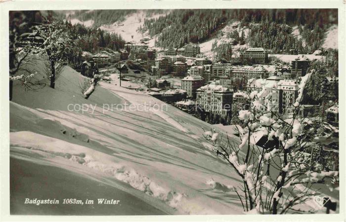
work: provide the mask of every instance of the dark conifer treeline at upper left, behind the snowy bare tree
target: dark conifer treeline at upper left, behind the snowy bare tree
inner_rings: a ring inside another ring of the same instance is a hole
[[[67,56],[69,65],[73,68],[78,68],[83,62],[82,53],[88,51],[95,53],[100,48],[110,48],[118,50],[124,47],[125,41],[118,34],[111,34],[104,30],[95,27],[87,28],[82,24],[72,25],[68,21],[62,21],[61,13],[55,11],[11,11],[9,14],[10,33],[10,55],[11,51],[20,45],[14,45],[15,41],[21,43],[21,35],[24,33],[33,32],[35,26],[47,25],[59,22],[59,29],[62,29],[67,34],[73,45],[69,45],[71,53]],[[16,38],[16,39],[13,39]]]

